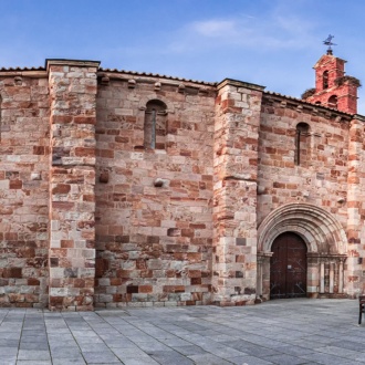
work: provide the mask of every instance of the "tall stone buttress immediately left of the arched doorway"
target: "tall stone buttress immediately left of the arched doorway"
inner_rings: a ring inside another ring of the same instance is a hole
[[[253,303],[257,294],[257,178],[262,86],[218,85],[215,128],[212,301]]]

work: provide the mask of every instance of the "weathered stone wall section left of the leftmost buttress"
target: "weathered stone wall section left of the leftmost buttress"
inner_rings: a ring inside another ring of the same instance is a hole
[[[45,71],[0,73],[0,306],[48,303]]]

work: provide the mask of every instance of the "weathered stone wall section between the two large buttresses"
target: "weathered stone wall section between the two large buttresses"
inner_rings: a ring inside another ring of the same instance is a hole
[[[215,87],[100,79],[95,305],[209,303]],[[144,147],[150,101],[166,104],[165,148]]]

